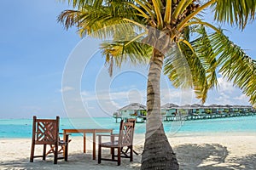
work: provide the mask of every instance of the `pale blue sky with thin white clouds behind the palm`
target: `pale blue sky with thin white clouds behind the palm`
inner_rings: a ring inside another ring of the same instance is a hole
[[[129,102],[145,104],[148,67],[125,65],[123,69],[116,69],[113,77],[108,77],[104,59],[96,51],[98,42],[89,38],[80,42],[75,29],[65,31],[57,23],[57,15],[67,8],[67,3],[54,0],[1,1],[0,118],[111,116]],[[253,59],[256,59],[255,26],[254,22],[243,32],[228,27],[230,32],[227,32]],[[78,54],[90,59],[80,77],[79,89],[67,84],[62,87],[68,59]],[[249,104],[241,90],[220,75],[218,80],[221,88],[208,94],[206,105]],[[199,102],[190,91],[173,89],[165,77],[161,85],[162,104]],[[72,103],[77,100],[74,98],[68,101],[70,105],[63,104],[61,93],[75,90],[83,105]]]

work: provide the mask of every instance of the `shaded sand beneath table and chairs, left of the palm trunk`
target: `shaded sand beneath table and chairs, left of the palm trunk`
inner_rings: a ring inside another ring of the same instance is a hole
[[[109,154],[109,152],[108,152]],[[57,164],[53,163],[53,156],[47,156],[46,161],[42,158],[35,158],[33,162],[29,162],[29,157],[17,159],[15,161],[1,161],[0,169],[117,169],[117,163],[113,161],[103,161],[98,164],[97,160],[92,160],[91,153],[73,153],[68,155],[68,161],[58,160]],[[129,159],[122,159],[121,167],[125,169],[140,169],[140,161],[130,162]]]

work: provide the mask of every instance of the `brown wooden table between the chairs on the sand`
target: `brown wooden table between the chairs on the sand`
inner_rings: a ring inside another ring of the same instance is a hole
[[[65,141],[65,136],[67,133],[84,133],[84,153],[86,152],[86,133],[92,133],[92,159],[96,160],[96,133],[113,133],[112,128],[68,128],[63,129],[63,137]]]

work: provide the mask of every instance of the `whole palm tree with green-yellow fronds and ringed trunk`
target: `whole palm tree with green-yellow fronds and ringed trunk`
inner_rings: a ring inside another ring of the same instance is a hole
[[[256,61],[224,36],[223,30],[202,20],[202,12],[211,8],[216,21],[239,26],[242,31],[248,21],[254,20],[256,0],[68,0],[68,3],[74,9],[63,11],[58,18],[67,29],[76,26],[81,37],[88,34],[113,38],[102,43],[110,73],[113,65],[121,66],[124,61],[149,64],[148,117],[141,169],[178,169],[160,116],[162,71],[174,87],[193,88],[202,103],[207,99],[207,91],[218,86],[219,71],[256,104]]]

